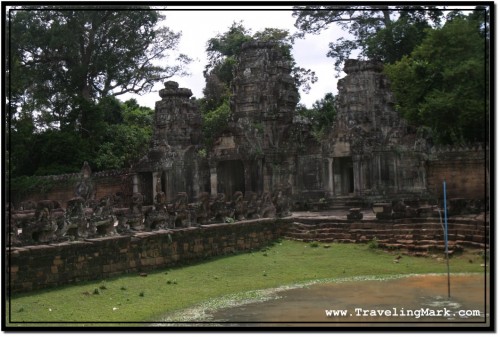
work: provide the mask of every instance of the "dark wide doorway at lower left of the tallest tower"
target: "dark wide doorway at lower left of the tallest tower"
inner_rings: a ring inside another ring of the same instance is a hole
[[[245,167],[241,160],[225,160],[217,164],[217,193],[231,199],[237,191],[245,193]]]

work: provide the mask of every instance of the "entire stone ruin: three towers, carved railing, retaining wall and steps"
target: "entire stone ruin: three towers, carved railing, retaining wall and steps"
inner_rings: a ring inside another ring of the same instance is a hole
[[[450,215],[486,211],[485,221],[450,222],[450,240],[487,248],[487,149],[430,148],[395,111],[382,64],[347,60],[344,71],[336,120],[320,143],[310,123],[295,116],[298,91],[279,45],[245,44],[229,123],[205,155],[191,90],[166,82],[150,149],[137,165],[114,173],[84,165],[69,180],[50,178],[69,181],[52,194],[10,200],[10,290],[165,267],[284,235],[325,242],[377,237],[387,248],[442,249],[433,238],[440,233],[436,203],[427,203],[441,198],[443,178]],[[363,220],[358,205],[335,223],[288,217],[308,199],[318,208],[359,200],[377,219]]]

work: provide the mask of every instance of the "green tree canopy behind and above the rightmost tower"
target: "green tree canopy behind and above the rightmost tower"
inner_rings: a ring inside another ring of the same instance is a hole
[[[354,52],[380,60],[397,110],[437,144],[487,141],[489,10],[421,5],[296,6],[295,37],[331,24],[349,33],[330,42],[340,74]],[[467,13],[469,13],[467,15]]]

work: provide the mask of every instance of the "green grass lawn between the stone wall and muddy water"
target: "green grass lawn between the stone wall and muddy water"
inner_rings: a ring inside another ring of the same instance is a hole
[[[396,255],[399,253],[362,244],[329,244],[325,248],[323,244],[278,241],[260,251],[157,270],[147,276],[131,274],[14,295],[7,299],[7,315],[11,315],[7,326],[154,322],[176,310],[250,290],[363,275],[446,272],[443,259],[402,255],[395,263]],[[464,253],[450,259],[450,271],[484,272],[482,264],[480,254]]]

